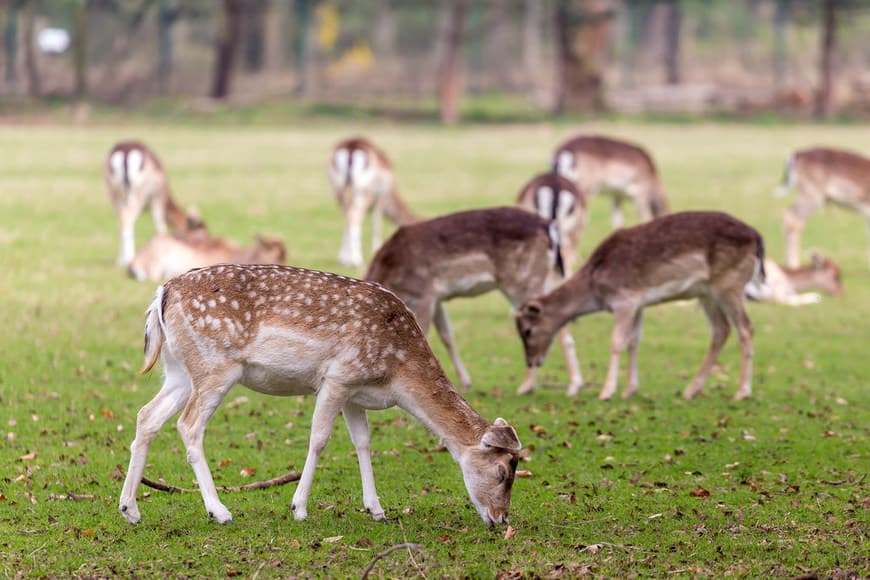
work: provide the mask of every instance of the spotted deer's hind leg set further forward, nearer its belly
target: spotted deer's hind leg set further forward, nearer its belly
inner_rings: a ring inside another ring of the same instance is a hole
[[[218,499],[214,479],[205,460],[202,439],[209,419],[237,379],[238,376],[225,369],[223,372],[212,372],[202,382],[194,382],[193,392],[177,424],[178,433],[187,449],[187,462],[199,483],[205,510],[219,524],[231,521],[233,516]]]

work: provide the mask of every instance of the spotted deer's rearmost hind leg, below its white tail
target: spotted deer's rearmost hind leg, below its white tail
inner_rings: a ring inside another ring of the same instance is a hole
[[[130,446],[130,465],[118,501],[118,509],[131,524],[138,523],[140,519],[136,492],[145,472],[151,442],[160,428],[181,411],[190,397],[190,376],[187,371],[175,363],[166,351],[163,353],[163,364],[166,369],[163,387],[136,416],[136,437]]]

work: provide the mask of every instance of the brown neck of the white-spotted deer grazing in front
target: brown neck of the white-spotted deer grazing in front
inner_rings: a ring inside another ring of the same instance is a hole
[[[416,368],[407,382],[401,381],[403,392],[398,406],[440,437],[458,461],[465,449],[480,444],[489,422],[462,398],[434,358],[427,370],[431,372]]]

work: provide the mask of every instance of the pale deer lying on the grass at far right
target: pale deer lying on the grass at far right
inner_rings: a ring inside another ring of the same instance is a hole
[[[764,260],[764,283],[750,282],[746,297],[750,300],[779,302],[789,306],[815,304],[822,297],[806,290],[822,290],[832,296],[843,295],[840,268],[833,260],[813,254],[812,261],[800,268],[786,268],[770,259]]]

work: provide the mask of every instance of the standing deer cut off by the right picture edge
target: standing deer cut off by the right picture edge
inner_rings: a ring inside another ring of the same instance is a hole
[[[807,219],[825,203],[857,211],[870,232],[870,159],[850,151],[817,147],[795,152],[786,163],[778,196],[790,189],[797,198],[783,214],[785,264],[797,268],[801,261],[801,231]]]

